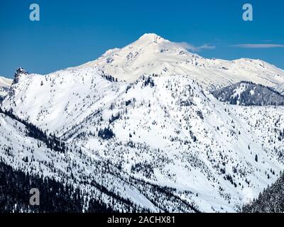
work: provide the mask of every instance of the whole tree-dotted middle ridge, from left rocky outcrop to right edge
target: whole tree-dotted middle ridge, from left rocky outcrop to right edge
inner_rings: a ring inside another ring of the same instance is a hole
[[[109,78],[93,67],[45,76],[21,70],[2,108],[111,165],[117,174],[106,182],[155,211],[236,211],[283,169],[283,107],[223,104],[187,76]],[[80,175],[90,177],[80,163]],[[119,186],[129,177],[138,192]],[[167,193],[175,200],[156,204]]]

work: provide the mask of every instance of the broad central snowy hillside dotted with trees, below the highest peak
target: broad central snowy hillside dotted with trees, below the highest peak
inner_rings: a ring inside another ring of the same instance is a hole
[[[202,211],[233,211],[275,179],[269,172],[283,168],[283,134],[270,131],[283,109],[235,109],[186,77],[148,78],[65,138],[133,175],[175,187]],[[102,140],[100,128],[111,128],[114,137]]]

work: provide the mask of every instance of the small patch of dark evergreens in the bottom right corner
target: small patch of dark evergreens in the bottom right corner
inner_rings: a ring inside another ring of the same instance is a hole
[[[284,172],[278,180],[264,189],[250,204],[243,206],[244,213],[283,213],[284,212]]]

